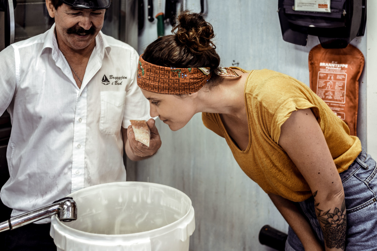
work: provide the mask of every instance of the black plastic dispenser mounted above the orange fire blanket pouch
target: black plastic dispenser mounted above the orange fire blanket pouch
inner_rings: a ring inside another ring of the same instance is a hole
[[[295,11],[294,0],[279,0],[283,40],[305,46],[308,35],[325,49],[345,48],[366,26],[366,0],[331,0],[331,12]]]

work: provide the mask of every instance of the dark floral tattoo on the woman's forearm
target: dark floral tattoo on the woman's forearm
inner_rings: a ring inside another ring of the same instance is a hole
[[[346,205],[343,199],[342,207],[335,208],[333,213],[330,210],[324,211],[319,209],[319,203],[316,202],[317,192],[313,193],[314,207],[316,208],[317,218],[320,222],[327,248],[344,249],[346,241]]]

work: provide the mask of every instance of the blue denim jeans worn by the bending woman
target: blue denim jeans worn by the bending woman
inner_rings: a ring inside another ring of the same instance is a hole
[[[348,170],[339,174],[342,179],[346,213],[346,251],[377,250],[377,167],[375,160],[364,149]],[[314,211],[313,196],[297,203],[314,233],[324,246],[322,229]],[[294,231],[289,227],[286,251],[304,251]]]

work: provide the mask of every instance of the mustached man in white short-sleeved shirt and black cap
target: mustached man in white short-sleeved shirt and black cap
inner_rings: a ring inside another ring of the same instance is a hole
[[[10,178],[0,196],[12,217],[126,181],[123,152],[136,161],[161,146],[136,85],[137,52],[100,31],[109,5],[46,0],[51,29],[0,52],[0,114],[7,109],[12,119]],[[149,119],[149,147],[135,140],[130,119]],[[5,250],[56,250],[49,222],[8,231]]]

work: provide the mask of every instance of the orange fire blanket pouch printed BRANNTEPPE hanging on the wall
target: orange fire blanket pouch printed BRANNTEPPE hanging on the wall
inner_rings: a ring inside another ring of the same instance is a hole
[[[363,53],[351,44],[344,49],[323,49],[318,44],[309,52],[311,90],[348,125],[354,136],[363,67]]]

